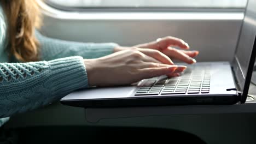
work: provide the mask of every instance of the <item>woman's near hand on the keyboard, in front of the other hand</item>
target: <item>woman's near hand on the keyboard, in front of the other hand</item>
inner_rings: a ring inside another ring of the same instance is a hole
[[[146,53],[146,54],[144,54]],[[158,59],[158,60],[157,60]],[[170,64],[162,62],[169,61]],[[171,65],[171,59],[152,50],[123,50],[96,59],[84,59],[89,86],[130,85],[142,79],[180,73],[186,67]]]

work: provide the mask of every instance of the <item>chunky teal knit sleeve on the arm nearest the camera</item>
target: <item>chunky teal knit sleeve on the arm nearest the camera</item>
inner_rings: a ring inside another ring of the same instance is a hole
[[[86,69],[80,56],[0,63],[0,118],[48,105],[86,87]]]

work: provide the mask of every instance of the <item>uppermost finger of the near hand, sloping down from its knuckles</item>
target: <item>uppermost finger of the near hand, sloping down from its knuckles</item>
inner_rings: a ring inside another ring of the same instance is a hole
[[[172,60],[169,57],[167,57],[164,53],[158,50],[140,49],[140,48],[138,48],[138,50],[149,57],[153,57],[154,59],[158,60],[161,63],[173,64]]]

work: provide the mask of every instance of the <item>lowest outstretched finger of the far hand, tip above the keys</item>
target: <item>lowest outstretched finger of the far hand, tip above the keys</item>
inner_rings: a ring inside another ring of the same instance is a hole
[[[162,51],[163,53],[165,53],[165,55],[172,57],[172,58],[176,58],[180,61],[183,61],[185,63],[189,63],[189,64],[193,64],[196,63],[196,60],[194,58],[191,58],[190,56],[188,56],[187,54],[185,54],[184,52],[174,49],[172,47],[168,47],[166,50]]]

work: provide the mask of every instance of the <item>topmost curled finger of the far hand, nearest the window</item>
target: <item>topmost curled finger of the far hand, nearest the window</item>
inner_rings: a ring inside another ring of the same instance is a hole
[[[160,49],[164,50],[167,49],[169,46],[178,46],[181,49],[189,49],[188,43],[185,43],[184,40],[176,38],[176,37],[165,37],[161,38],[156,45],[159,45]]]

